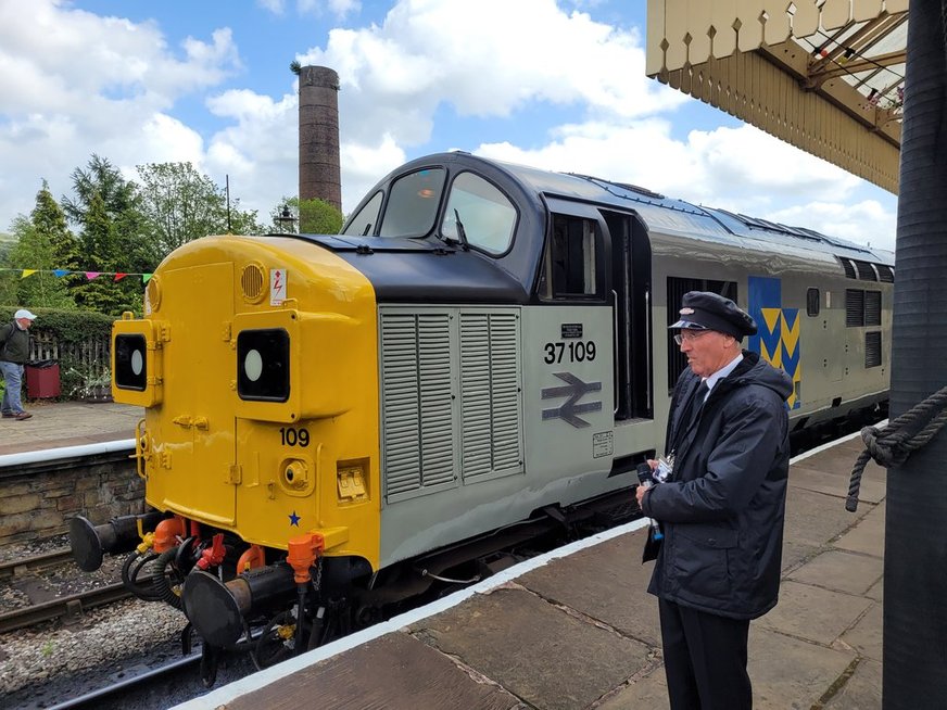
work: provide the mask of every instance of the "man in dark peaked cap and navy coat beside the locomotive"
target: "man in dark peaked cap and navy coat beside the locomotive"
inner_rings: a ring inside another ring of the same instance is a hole
[[[793,382],[741,347],[756,322],[733,301],[691,291],[681,305],[670,328],[690,368],[671,401],[671,472],[637,489],[664,532],[648,592],[672,710],[748,710],[749,621],[779,594]]]

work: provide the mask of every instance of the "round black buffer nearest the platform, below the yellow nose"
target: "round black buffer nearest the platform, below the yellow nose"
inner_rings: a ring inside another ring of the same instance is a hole
[[[195,569],[185,580],[185,613],[209,644],[231,646],[243,635],[244,617],[293,597],[293,576],[292,567],[282,562],[250,570],[227,583]]]

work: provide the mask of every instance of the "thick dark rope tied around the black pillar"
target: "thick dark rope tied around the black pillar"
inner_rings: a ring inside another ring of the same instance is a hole
[[[861,474],[870,459],[879,466],[891,468],[900,466],[908,457],[926,445],[947,423],[947,386],[940,388],[923,402],[919,402],[900,417],[879,429],[866,427],[861,430],[864,451],[858,455],[851,469],[848,482],[848,498],[845,509],[855,512],[858,509],[858,491],[861,487]]]

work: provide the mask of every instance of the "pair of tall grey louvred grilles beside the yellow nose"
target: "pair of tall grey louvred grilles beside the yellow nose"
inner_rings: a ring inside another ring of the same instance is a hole
[[[522,470],[519,318],[381,308],[388,502]]]

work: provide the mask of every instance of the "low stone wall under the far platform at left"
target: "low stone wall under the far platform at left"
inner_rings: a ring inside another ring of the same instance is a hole
[[[53,537],[70,520],[93,524],[144,510],[134,449],[0,469],[0,546]]]

